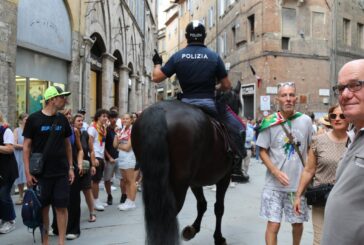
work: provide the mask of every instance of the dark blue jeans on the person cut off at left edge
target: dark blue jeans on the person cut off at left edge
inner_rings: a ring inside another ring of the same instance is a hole
[[[5,182],[0,187],[0,219],[4,221],[12,221],[15,219],[15,210],[13,200],[11,199],[11,188],[14,180]]]

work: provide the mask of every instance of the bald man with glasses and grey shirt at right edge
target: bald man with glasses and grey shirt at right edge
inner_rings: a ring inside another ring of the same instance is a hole
[[[364,59],[346,63],[333,87],[345,118],[353,124],[348,149],[336,171],[325,207],[322,245],[364,242]]]

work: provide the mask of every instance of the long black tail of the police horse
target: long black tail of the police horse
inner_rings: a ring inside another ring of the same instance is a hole
[[[137,128],[133,128],[133,134],[140,147],[136,155],[143,173],[146,242],[150,245],[179,244],[176,203],[169,185],[165,112],[161,107],[152,106],[143,112],[140,119],[135,125]]]

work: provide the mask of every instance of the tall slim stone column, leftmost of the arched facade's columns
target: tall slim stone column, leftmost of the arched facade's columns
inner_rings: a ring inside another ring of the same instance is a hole
[[[91,71],[91,47],[94,45],[94,40],[89,37],[83,37],[84,57],[82,59],[82,82],[81,82],[81,106],[86,109],[86,121],[89,122],[90,116],[90,71]]]

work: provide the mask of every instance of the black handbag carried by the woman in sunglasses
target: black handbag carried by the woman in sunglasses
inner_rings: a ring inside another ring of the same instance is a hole
[[[305,193],[308,205],[325,206],[333,184],[321,184],[318,186],[308,187]]]

